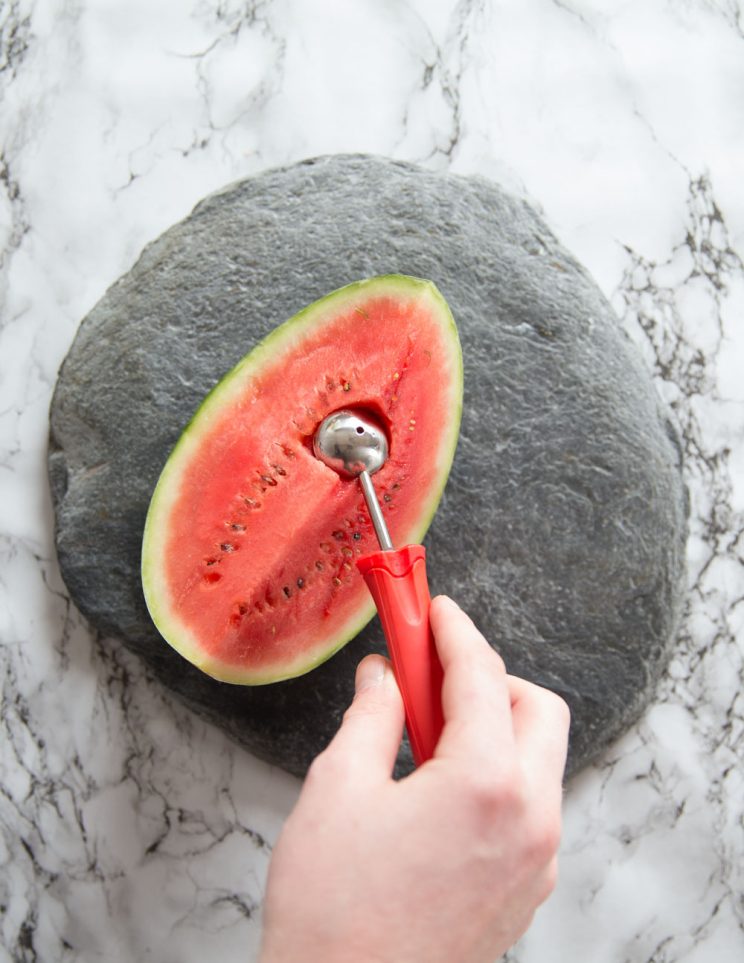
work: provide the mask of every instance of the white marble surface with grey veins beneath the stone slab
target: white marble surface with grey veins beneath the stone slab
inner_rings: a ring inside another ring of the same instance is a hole
[[[76,326],[247,174],[369,151],[529,198],[684,433],[689,603],[657,702],[567,788],[512,963],[744,954],[744,7],[739,0],[0,6],[0,959],[250,960],[299,784],[71,605],[47,412]]]

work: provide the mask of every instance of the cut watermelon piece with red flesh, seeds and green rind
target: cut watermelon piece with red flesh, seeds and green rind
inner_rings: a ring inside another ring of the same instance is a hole
[[[377,495],[394,544],[420,541],[462,409],[457,329],[432,282],[370,278],[300,311],[217,384],[168,458],[144,530],[145,600],[215,679],[302,675],[374,615],[355,565],[378,547],[359,483],[312,450],[341,408],[383,426]]]

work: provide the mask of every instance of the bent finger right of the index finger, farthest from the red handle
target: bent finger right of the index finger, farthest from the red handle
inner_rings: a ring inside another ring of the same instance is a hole
[[[533,785],[560,790],[571,716],[560,696],[532,682],[507,677],[514,738]]]

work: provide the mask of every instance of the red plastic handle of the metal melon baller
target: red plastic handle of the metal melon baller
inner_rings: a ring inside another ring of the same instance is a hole
[[[429,626],[429,585],[423,545],[371,552],[357,568],[372,593],[406,710],[413,758],[434,754],[444,725],[442,666]]]

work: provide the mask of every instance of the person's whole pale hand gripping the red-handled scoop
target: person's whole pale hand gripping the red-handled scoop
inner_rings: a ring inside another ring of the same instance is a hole
[[[493,963],[553,890],[568,708],[507,675],[450,599],[431,626],[434,757],[393,780],[403,704],[367,656],[274,851],[260,963]]]

